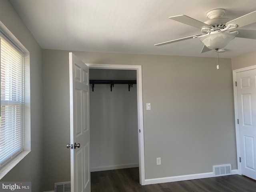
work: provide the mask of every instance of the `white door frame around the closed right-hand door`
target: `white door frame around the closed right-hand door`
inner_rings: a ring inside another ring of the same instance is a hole
[[[236,126],[236,159],[237,159],[237,169],[238,169],[238,174],[242,175],[242,169],[241,169],[241,162],[240,162],[240,138],[239,138],[239,126],[237,123],[238,119],[238,101],[237,101],[237,88],[236,88],[236,74],[238,72],[243,72],[243,71],[248,71],[248,70],[253,70],[256,69],[256,65],[253,66],[248,66],[240,69],[235,69],[233,70],[233,90],[234,90],[234,110],[235,110],[235,126]]]

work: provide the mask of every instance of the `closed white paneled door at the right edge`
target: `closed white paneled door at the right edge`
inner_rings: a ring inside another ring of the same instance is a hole
[[[256,180],[256,69],[236,75],[241,170]]]

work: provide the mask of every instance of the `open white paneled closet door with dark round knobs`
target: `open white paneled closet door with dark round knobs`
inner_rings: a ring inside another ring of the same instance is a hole
[[[89,68],[73,53],[69,76],[71,192],[90,192]]]

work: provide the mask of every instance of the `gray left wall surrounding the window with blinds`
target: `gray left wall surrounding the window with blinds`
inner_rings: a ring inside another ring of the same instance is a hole
[[[30,52],[31,152],[1,181],[31,181],[42,191],[42,55],[41,48],[8,0],[0,1],[0,21]]]

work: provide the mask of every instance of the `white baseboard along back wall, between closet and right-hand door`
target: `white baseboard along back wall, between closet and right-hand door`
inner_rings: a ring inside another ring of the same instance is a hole
[[[238,170],[237,169],[232,170],[231,174],[232,175],[238,174]],[[192,179],[202,179],[202,178],[209,178],[209,177],[216,177],[216,176],[214,175],[214,172],[209,172],[209,173],[181,175],[181,176],[173,176],[173,177],[145,179],[144,185],[168,183],[168,182],[175,182],[175,181],[185,181],[185,180],[192,180]]]

